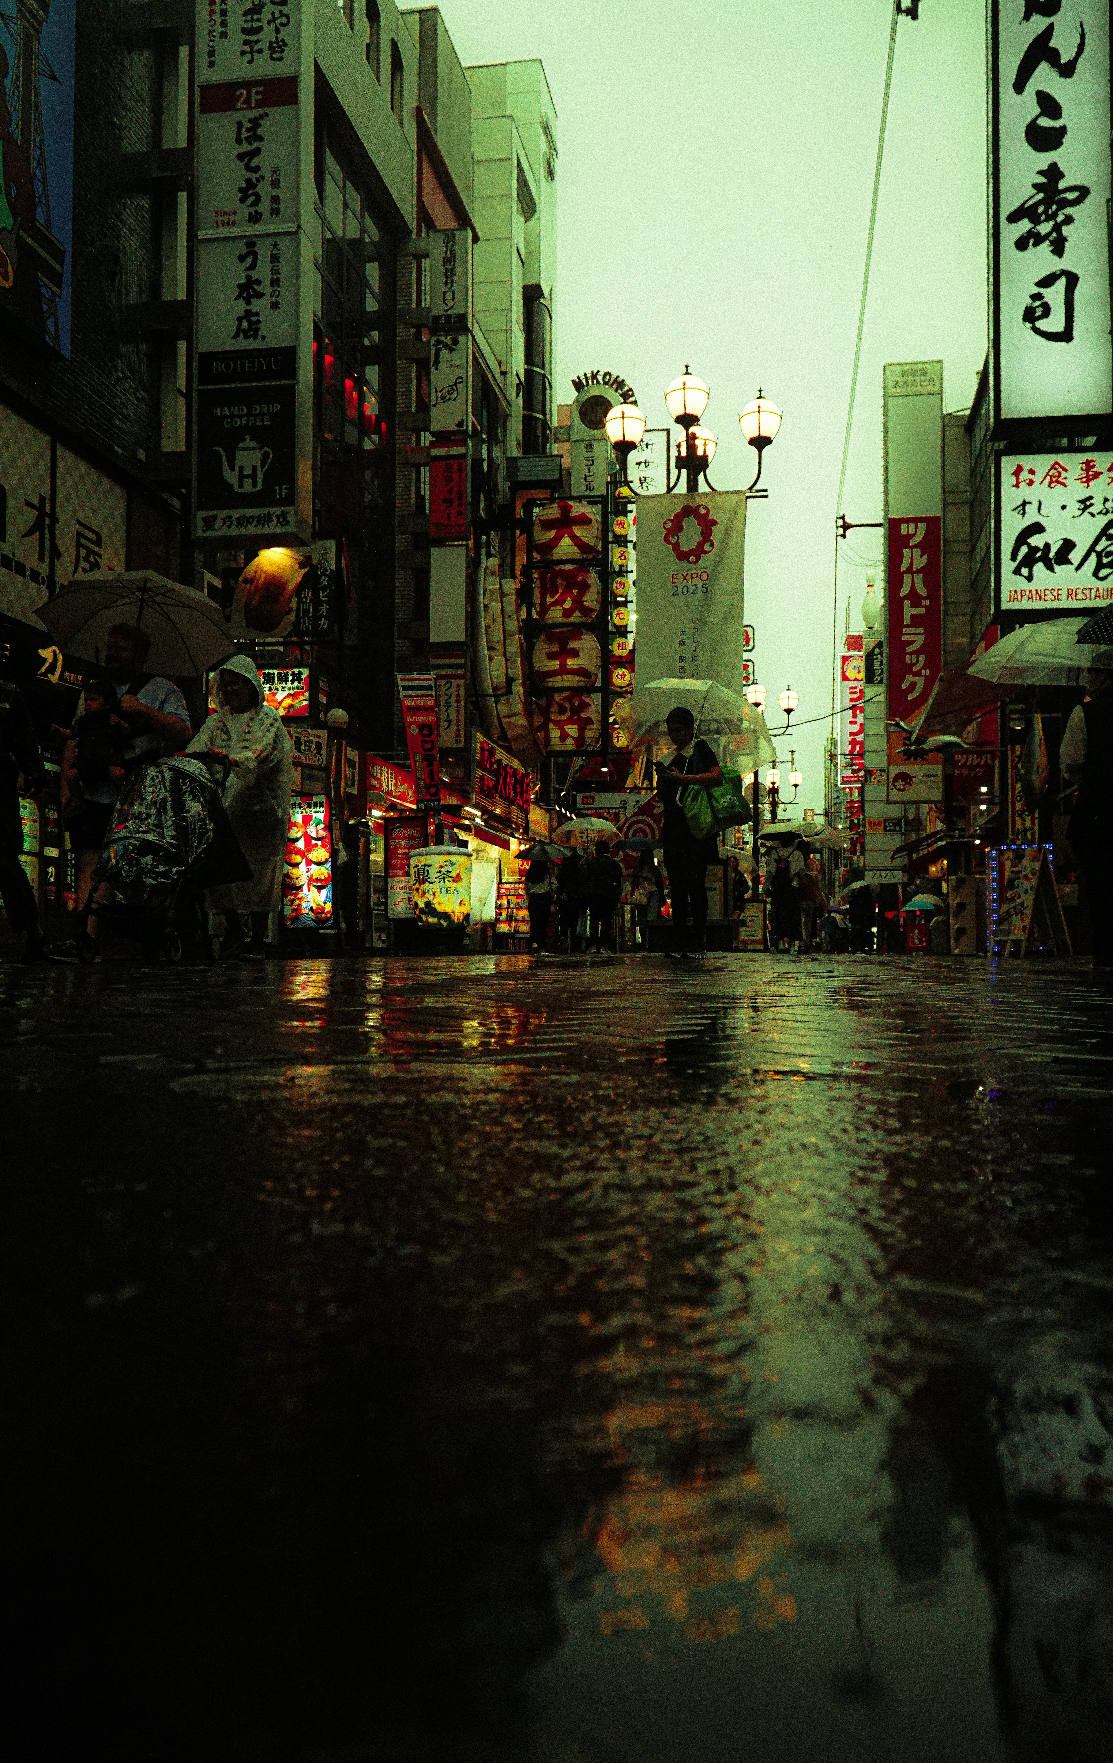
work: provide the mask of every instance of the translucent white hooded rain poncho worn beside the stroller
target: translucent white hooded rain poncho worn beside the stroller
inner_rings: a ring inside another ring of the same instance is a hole
[[[224,703],[220,673],[242,673],[256,693],[256,707],[235,716]],[[217,673],[217,703],[187,753],[228,753],[231,772],[224,807],[233,832],[252,867],[250,882],[212,889],[213,906],[231,911],[277,911],[282,897],[282,853],[289,820],[293,742],[282,718],[263,698],[263,681],[254,661],[231,656]]]

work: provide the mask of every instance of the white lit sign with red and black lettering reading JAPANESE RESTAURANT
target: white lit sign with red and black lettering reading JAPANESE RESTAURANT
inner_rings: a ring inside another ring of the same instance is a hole
[[[1000,610],[1113,599],[1113,453],[1002,453]]]

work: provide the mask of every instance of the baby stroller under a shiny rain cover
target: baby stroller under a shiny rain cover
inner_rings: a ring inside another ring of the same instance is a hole
[[[97,957],[90,915],[138,941],[148,959],[178,963],[187,945],[219,959],[220,938],[210,931],[205,889],[249,882],[252,874],[224,813],[220,765],[226,762],[176,755],[141,765],[127,779],[88,903],[78,913],[81,963]]]

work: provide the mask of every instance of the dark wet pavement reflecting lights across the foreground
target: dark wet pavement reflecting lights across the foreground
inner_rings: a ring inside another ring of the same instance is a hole
[[[0,1038],[9,1756],[1113,1758],[1097,977],[7,966]]]

